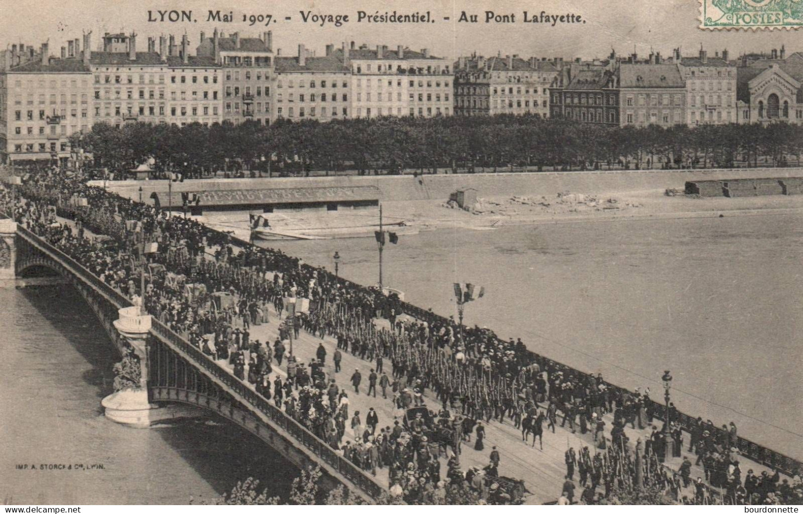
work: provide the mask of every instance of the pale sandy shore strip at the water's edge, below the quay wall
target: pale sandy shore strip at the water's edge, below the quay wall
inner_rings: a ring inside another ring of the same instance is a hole
[[[454,227],[493,230],[509,225],[543,225],[590,221],[644,221],[704,217],[759,216],[789,212],[803,214],[803,196],[693,198],[666,196],[664,190],[571,192],[567,196],[491,196],[482,198],[483,212],[447,208],[441,200],[403,200],[382,203],[385,223],[404,222],[422,231]],[[576,200],[577,199],[577,200]],[[287,233],[315,234],[320,227],[339,229],[335,237],[366,237],[365,225],[378,223],[377,211],[336,214],[269,214],[271,225]],[[247,240],[248,212],[206,212],[196,217],[215,229],[234,231]],[[392,228],[390,228],[392,230]],[[359,233],[359,234],[358,234]]]

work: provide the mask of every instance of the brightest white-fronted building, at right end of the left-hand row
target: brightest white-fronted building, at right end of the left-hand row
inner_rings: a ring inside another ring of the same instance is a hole
[[[413,51],[400,45],[390,50],[350,42],[338,50],[329,45],[327,53],[351,72],[353,118],[452,114],[452,65],[426,48]]]

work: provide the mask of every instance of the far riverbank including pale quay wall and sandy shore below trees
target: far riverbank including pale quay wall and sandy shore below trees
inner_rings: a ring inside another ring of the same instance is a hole
[[[693,171],[486,173],[438,176],[340,176],[279,179],[187,180],[173,184],[176,191],[376,185],[380,189],[384,221],[404,223],[420,230],[457,227],[490,230],[504,225],[539,225],[580,221],[637,221],[685,217],[745,216],[797,212],[803,196],[695,198],[666,196],[666,189],[683,189],[687,180],[803,176],[801,168],[752,168]],[[102,186],[102,182],[94,184]],[[148,203],[151,192],[165,193],[164,180],[108,182],[122,196]],[[142,188],[142,192],[139,191]],[[475,212],[447,208],[450,192],[475,188]],[[568,193],[568,194],[567,194]],[[255,213],[261,213],[251,211]],[[207,210],[199,221],[215,229],[234,231],[248,239],[247,210]],[[376,209],[340,212],[274,212],[267,214],[276,229],[327,237],[365,237],[366,227],[378,223]]]

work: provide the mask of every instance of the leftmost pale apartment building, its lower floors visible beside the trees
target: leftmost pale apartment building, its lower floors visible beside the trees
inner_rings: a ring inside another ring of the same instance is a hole
[[[70,53],[50,55],[48,43],[39,52],[14,45],[0,71],[0,162],[51,160],[66,164],[69,138],[92,128],[92,74]]]

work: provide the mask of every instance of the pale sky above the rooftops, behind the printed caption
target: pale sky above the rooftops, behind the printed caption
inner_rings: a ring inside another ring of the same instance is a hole
[[[149,10],[192,10],[194,22],[148,22]],[[208,10],[226,13],[234,10],[238,21],[230,23],[207,22]],[[348,14],[349,22],[335,27],[323,27],[302,22],[300,10],[314,14]],[[430,10],[434,23],[369,23],[357,22],[357,10],[380,14],[397,10],[400,14]],[[479,15],[479,23],[457,22],[461,11]],[[516,14],[513,23],[485,23],[485,11],[497,14]],[[548,26],[541,23],[524,23],[523,12],[540,14],[579,14],[585,23]],[[803,51],[800,30],[700,30],[698,0],[435,0],[434,2],[402,2],[390,0],[0,0],[0,47],[12,42],[26,45],[39,44],[50,39],[51,54],[58,55],[59,47],[67,39],[81,38],[81,30],[92,30],[92,47],[97,48],[104,32],[135,30],[137,50],[145,51],[148,36],[175,34],[177,39],[185,31],[190,36],[190,47],[198,44],[198,33],[211,34],[218,26],[226,34],[239,31],[241,36],[259,37],[263,24],[249,26],[242,22],[243,14],[273,14],[274,49],[282,55],[295,55],[297,46],[306,46],[324,55],[324,46],[333,42],[354,40],[359,46],[365,42],[371,47],[386,44],[395,48],[399,44],[413,49],[427,47],[433,55],[456,58],[472,51],[491,56],[519,54],[523,57],[560,56],[565,59],[605,57],[613,47],[620,54],[631,53],[634,45],[639,55],[646,55],[650,47],[670,56],[674,47],[682,47],[683,55],[696,55],[700,43],[708,55],[728,48],[736,57],[744,51],[770,51],[785,44],[788,54]],[[15,15],[18,14],[18,15]],[[284,18],[291,16],[291,21]],[[443,17],[449,16],[450,21]]]

